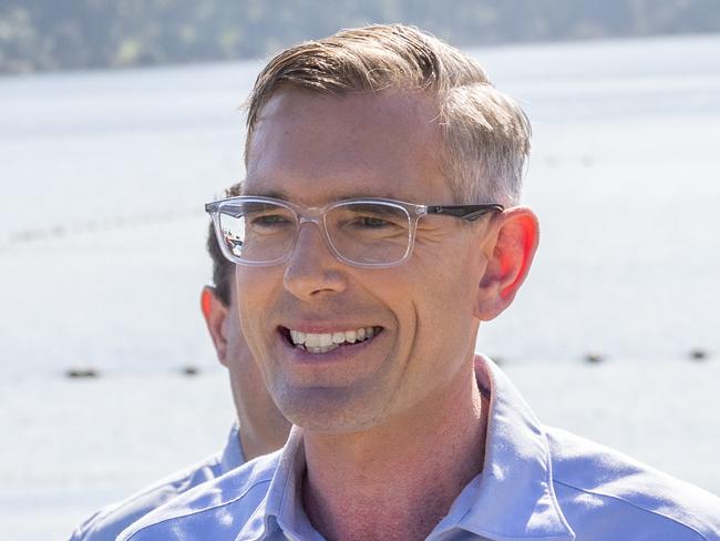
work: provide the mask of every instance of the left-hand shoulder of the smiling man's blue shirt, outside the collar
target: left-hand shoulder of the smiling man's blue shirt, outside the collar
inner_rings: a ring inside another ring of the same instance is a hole
[[[187,491],[122,532],[122,541],[151,539],[235,539],[264,501],[280,451]],[[194,537],[196,534],[196,537]],[[183,535],[178,538],[177,535]]]

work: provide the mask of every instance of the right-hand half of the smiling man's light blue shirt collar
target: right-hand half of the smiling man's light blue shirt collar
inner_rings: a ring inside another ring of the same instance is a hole
[[[477,356],[475,374],[491,397],[485,463],[435,531],[460,528],[492,540],[574,540],[553,489],[541,422],[492,360]]]

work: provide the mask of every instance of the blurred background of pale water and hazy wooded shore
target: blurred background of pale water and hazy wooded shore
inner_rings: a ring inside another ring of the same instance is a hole
[[[541,248],[477,350],[545,422],[720,493],[720,2],[0,0],[8,539],[223,446],[203,204],[268,55],[370,22],[461,47],[533,122]]]

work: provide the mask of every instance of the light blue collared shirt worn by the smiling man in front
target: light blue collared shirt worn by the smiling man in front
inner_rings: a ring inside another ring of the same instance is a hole
[[[428,539],[720,541],[720,499],[541,425],[492,361],[477,367],[491,397],[483,470]],[[119,540],[321,540],[302,508],[305,468],[295,427],[280,451],[185,493]]]

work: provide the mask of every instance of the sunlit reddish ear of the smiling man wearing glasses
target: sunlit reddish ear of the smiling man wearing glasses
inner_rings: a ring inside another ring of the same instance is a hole
[[[492,217],[486,239],[485,273],[477,288],[475,317],[488,321],[507,308],[529,270],[537,243],[537,216],[516,206]]]

